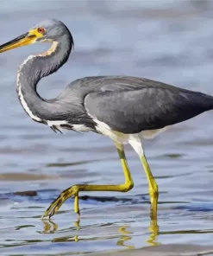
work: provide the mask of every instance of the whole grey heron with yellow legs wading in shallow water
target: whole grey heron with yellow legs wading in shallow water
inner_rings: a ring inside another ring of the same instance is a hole
[[[213,97],[159,81],[129,76],[96,76],[73,81],[55,99],[43,99],[38,82],[62,67],[72,51],[72,34],[63,22],[40,22],[16,39],[0,46],[0,53],[34,42],[51,42],[43,54],[30,55],[17,71],[16,91],[28,116],[53,131],[95,131],[110,137],[122,163],[125,181],[120,185],[77,184],[64,190],[43,217],[55,214],[63,202],[74,197],[79,214],[78,192],[128,192],[134,186],[124,154],[131,144],[147,175],[153,219],[157,216],[158,186],[148,166],[141,138],[153,138],[169,125],[193,118],[213,108]]]

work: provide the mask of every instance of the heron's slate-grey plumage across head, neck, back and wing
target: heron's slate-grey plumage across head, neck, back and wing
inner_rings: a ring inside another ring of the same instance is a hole
[[[65,120],[67,124],[60,126],[66,129],[75,124],[97,131],[97,119],[114,131],[138,133],[173,125],[213,108],[213,98],[204,93],[128,76],[75,80],[57,98],[43,99],[36,86],[66,63],[73,39],[62,22],[48,20],[33,29],[40,27],[46,32],[36,42],[58,42],[57,46],[53,53],[34,56],[21,65],[17,90],[21,86],[23,99],[41,123]]]

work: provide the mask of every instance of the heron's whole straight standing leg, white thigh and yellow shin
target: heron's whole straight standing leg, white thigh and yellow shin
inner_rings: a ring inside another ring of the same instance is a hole
[[[143,168],[147,176],[148,191],[149,191],[150,202],[151,202],[151,219],[157,220],[157,208],[158,208],[158,197],[159,197],[158,185],[155,182],[153,174],[147,163],[147,158],[142,149],[141,139],[137,135],[134,135],[132,138],[128,140],[128,142],[129,144],[132,145],[132,147],[138,153],[141,159],[141,163],[143,165]]]

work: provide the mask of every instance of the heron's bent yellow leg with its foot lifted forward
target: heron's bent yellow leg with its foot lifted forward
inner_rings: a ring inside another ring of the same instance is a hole
[[[68,198],[72,195],[74,196],[74,212],[80,214],[78,208],[78,193],[80,191],[115,191],[115,192],[128,192],[130,189],[134,187],[134,183],[128,169],[128,163],[125,157],[125,153],[123,150],[122,144],[116,144],[116,148],[122,163],[122,170],[124,173],[125,182],[120,185],[90,185],[90,184],[77,184],[73,185],[72,187],[64,190],[60,196],[54,200],[49,208],[45,211],[42,218],[49,216],[53,216],[53,214],[57,213],[60,206],[65,202]]]

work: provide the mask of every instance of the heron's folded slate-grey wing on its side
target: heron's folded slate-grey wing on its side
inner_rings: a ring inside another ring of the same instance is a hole
[[[115,131],[137,133],[160,129],[213,108],[204,93],[147,87],[135,91],[90,93],[85,108],[92,118]]]

